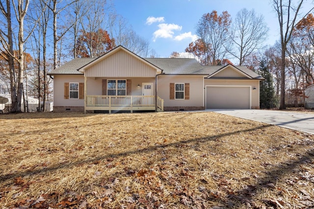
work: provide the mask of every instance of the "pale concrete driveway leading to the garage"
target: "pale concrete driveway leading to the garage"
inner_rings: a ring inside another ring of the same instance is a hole
[[[274,124],[293,130],[314,134],[314,114],[310,113],[306,114],[290,111],[231,109],[210,109],[208,111],[250,120],[257,120],[264,123]]]

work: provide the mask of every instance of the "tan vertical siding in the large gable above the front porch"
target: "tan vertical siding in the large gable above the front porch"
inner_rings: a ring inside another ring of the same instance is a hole
[[[153,77],[156,69],[120,50],[85,70],[87,77]]]

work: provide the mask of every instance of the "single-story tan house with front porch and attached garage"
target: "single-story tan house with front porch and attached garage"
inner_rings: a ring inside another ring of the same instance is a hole
[[[117,46],[48,73],[54,112],[259,109],[260,80],[244,66],[201,66],[189,58],[142,58]]]

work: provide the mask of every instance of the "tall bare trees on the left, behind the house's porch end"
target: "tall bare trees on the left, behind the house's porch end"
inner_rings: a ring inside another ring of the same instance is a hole
[[[118,45],[155,55],[105,0],[0,0],[0,23],[0,93],[11,94],[11,112],[21,112],[27,95],[45,111],[47,73],[69,59],[98,57]]]

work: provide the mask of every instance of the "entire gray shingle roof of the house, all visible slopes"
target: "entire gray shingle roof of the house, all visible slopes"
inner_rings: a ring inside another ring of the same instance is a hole
[[[76,58],[60,66],[59,68],[52,70],[50,75],[55,74],[82,74],[78,71],[81,67],[94,61],[96,58]],[[193,58],[143,58],[147,62],[155,65],[159,69],[163,70],[165,74],[199,74],[199,75],[211,75],[217,70],[222,69],[225,66],[201,66],[196,59]],[[262,77],[256,72],[249,70],[245,66],[235,66],[235,68],[241,70],[245,74],[255,79],[261,79]]]

